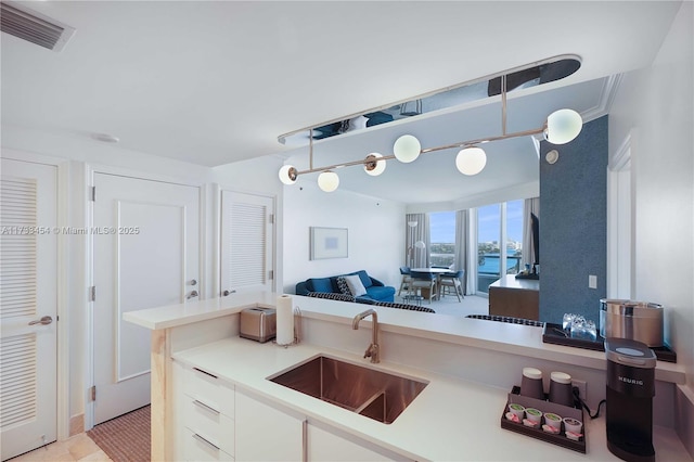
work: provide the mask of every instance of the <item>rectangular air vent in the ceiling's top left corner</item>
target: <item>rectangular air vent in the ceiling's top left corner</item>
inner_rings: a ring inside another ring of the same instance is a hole
[[[3,33],[30,41],[40,47],[60,52],[75,34],[73,27],[28,9],[20,10],[13,4],[2,2],[0,16]]]

